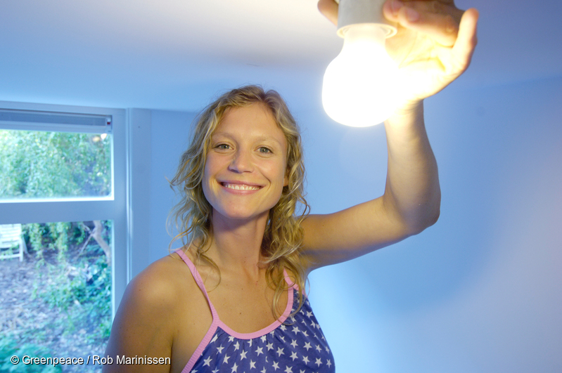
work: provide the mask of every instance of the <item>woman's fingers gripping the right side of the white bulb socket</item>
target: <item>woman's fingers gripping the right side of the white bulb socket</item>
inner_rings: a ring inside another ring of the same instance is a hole
[[[454,46],[463,11],[450,1],[389,0],[383,13],[388,20],[426,34],[442,46]]]

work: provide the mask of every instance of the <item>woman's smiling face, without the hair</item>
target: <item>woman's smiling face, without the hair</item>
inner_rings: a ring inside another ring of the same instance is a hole
[[[285,136],[267,107],[226,110],[212,134],[203,176],[213,218],[267,216],[288,184],[286,155]]]

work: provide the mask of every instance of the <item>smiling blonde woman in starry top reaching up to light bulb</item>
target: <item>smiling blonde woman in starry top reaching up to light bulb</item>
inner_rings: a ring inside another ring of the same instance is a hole
[[[337,19],[333,0],[319,1]],[[437,221],[437,165],[423,98],[470,63],[478,12],[452,1],[387,1],[399,34],[388,48],[416,81],[385,122],[383,196],[328,215],[295,215],[304,169],[283,100],[259,87],[226,93],[201,114],[172,184],[187,244],[132,280],[104,372],[333,372],[333,356],[300,289],[314,268],[347,261]],[[461,19],[462,18],[462,19]],[[421,79],[423,78],[423,79]],[[117,365],[117,356],[170,365]]]

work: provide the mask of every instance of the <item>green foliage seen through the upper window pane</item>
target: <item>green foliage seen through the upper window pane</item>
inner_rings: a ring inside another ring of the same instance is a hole
[[[0,197],[86,197],[111,190],[109,138],[0,130]]]

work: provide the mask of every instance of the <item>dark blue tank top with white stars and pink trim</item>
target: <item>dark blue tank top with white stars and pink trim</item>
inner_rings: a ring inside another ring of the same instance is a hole
[[[336,372],[333,355],[308,299],[305,298],[298,313],[290,316],[298,307],[299,293],[286,271],[283,272],[289,289],[283,315],[257,332],[238,333],[220,320],[193,262],[181,249],[176,252],[189,267],[212,314],[209,330],[181,373]]]

